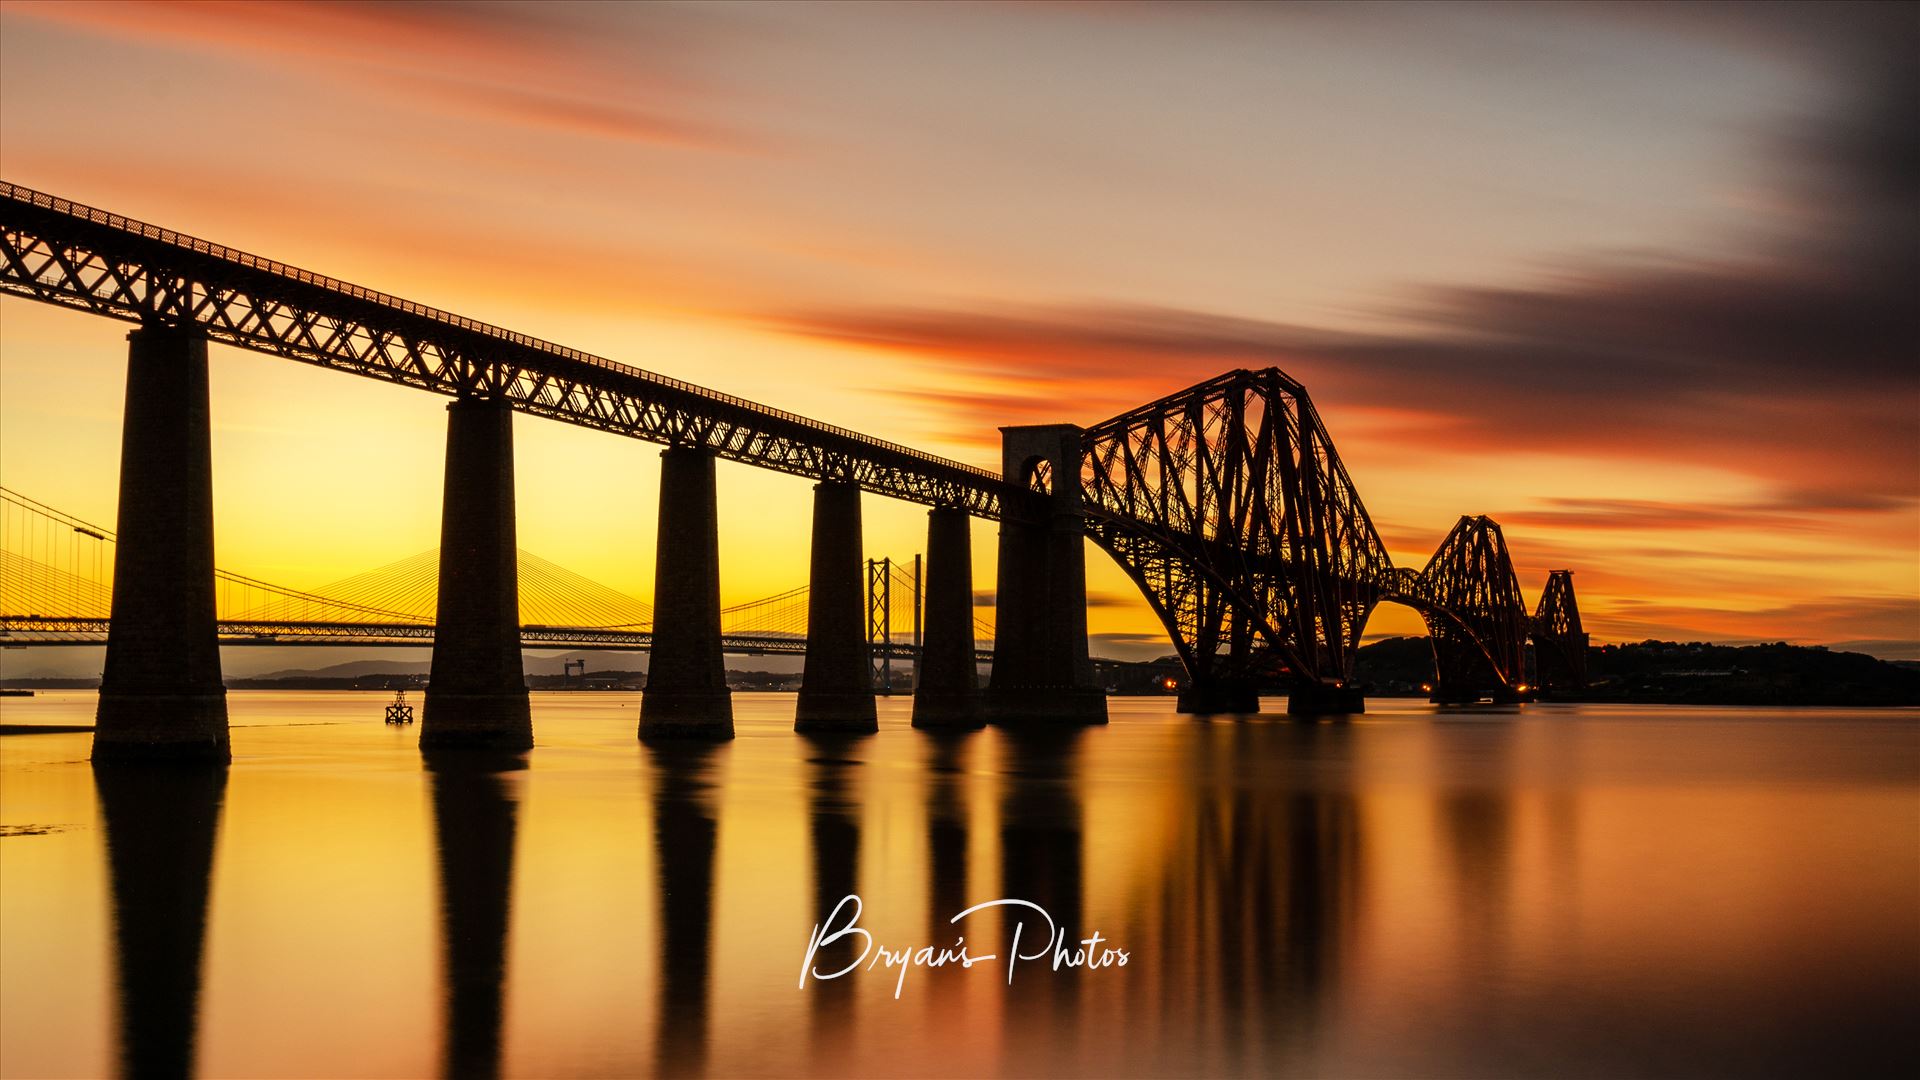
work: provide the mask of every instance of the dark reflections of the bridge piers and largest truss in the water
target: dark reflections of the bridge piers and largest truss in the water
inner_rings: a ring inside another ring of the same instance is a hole
[[[876,994],[876,986],[891,990],[885,970],[808,984],[789,1030],[801,1057],[787,1068],[843,1074],[864,1063],[872,1072],[876,1034],[902,1022],[891,1009],[924,1013],[925,1019],[912,1022],[916,1030],[962,1034],[956,1068],[966,1068],[973,1061],[966,1055],[973,1053],[989,1055],[981,1063],[1020,1061],[1035,1072],[1100,1070],[1100,1063],[1146,1070],[1154,1061],[1175,1065],[1198,1043],[1231,1047],[1233,1057],[1188,1059],[1188,1068],[1258,1072],[1298,1061],[1300,1042],[1338,988],[1365,905],[1357,796],[1317,786],[1304,765],[1338,759],[1340,748],[1325,744],[1344,740],[1346,732],[1329,724],[1192,730],[1183,773],[1164,790],[1165,798],[1142,807],[1140,821],[1162,828],[1142,832],[1123,861],[1104,867],[1089,847],[1089,830],[1098,828],[1089,796],[1098,784],[1085,732],[931,736],[925,753],[916,755],[918,778],[910,780],[925,836],[918,871],[925,880],[920,920],[925,940],[950,942],[954,913],[1010,896],[1044,907],[1069,940],[1106,930],[1110,942],[1133,951],[1133,967],[1085,972],[1035,961],[1012,984],[998,967],[916,970],[908,997],[925,995],[924,1009],[912,1001],[879,1007],[885,992]],[[893,846],[883,828],[876,834],[881,817],[874,807],[887,798],[876,790],[881,780],[872,746],[849,736],[806,740],[808,761],[791,799],[804,821],[810,884],[803,892],[814,911],[797,915],[822,919],[847,894],[879,897],[879,882],[893,876],[879,855]],[[651,817],[657,888],[651,903],[639,903],[651,909],[659,978],[651,1053],[620,1063],[618,1070],[712,1072],[716,1061],[732,1059],[730,1047],[716,1045],[716,1030],[739,1030],[743,1022],[714,999],[714,957],[726,932],[714,915],[728,817],[722,771],[732,751],[670,744],[643,753],[637,776]],[[1288,757],[1302,767],[1273,774]],[[1260,788],[1233,782],[1254,771],[1273,782]],[[117,1017],[129,1072],[194,1070],[225,776],[225,769],[196,767],[96,771],[111,853]],[[503,1072],[507,1001],[516,984],[509,955],[528,776],[518,755],[428,757],[424,796],[438,863],[438,1043],[447,1076]],[[1117,851],[1110,842],[1102,859]],[[582,855],[597,857],[586,849]],[[1100,896],[1096,876],[1121,892]],[[1116,911],[1123,913],[1121,922],[1096,926]],[[1000,917],[973,917],[958,930],[977,947],[1008,940]],[[793,942],[795,957],[801,944]],[[822,967],[845,959],[822,955]],[[785,959],[778,967],[789,970]],[[876,1005],[866,1007],[868,1001]]]

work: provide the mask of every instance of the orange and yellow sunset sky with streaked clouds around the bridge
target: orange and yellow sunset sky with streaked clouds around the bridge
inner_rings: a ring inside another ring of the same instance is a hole
[[[1488,513],[1596,642],[1920,657],[1914,56],[1912,6],[10,2],[0,175],[981,465],[1277,365],[1404,565]],[[113,523],[125,332],[0,300],[0,482]],[[434,548],[444,405],[215,348],[219,565]],[[659,448],[515,432],[520,546],[651,598]],[[720,469],[724,600],[804,582],[808,482]]]

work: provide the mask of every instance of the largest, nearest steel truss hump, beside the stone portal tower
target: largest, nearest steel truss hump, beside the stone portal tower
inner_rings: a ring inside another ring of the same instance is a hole
[[[1087,534],[1194,682],[1342,682],[1392,563],[1306,388],[1231,371],[1087,429]]]

